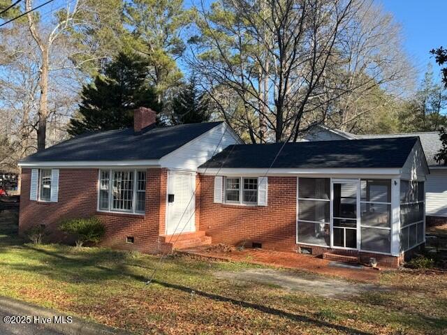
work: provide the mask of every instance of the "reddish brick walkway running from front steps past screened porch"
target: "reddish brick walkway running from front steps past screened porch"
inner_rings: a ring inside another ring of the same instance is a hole
[[[215,260],[247,262],[258,265],[270,265],[309,271],[315,274],[337,276],[344,279],[363,281],[366,283],[378,283],[379,271],[370,267],[345,267],[342,263],[323,260],[309,255],[298,253],[285,253],[281,251],[268,251],[262,249],[247,248],[244,251],[216,252],[207,251],[206,247],[189,248],[177,251]]]

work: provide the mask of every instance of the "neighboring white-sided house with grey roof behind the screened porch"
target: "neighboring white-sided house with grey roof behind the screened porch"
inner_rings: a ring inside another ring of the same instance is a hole
[[[420,138],[430,168],[430,174],[427,176],[427,182],[425,183],[425,214],[427,215],[427,224],[436,225],[447,223],[447,165],[437,163],[434,160],[434,155],[442,148],[439,132],[355,135],[337,129],[330,129],[325,126],[316,126],[302,140],[327,140],[328,137],[332,140],[358,140],[361,138],[408,136],[418,136]]]

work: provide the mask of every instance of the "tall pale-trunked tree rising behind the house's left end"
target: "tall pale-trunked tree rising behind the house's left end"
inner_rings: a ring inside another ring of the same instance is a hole
[[[117,1],[112,1],[111,4],[117,9],[121,8],[117,5]],[[25,10],[28,12],[31,8],[33,8],[33,0],[25,0]],[[115,13],[112,8],[111,12],[110,10],[108,12],[108,17],[100,17],[101,15],[98,13],[103,14],[103,8],[101,3],[96,5],[95,1],[76,0],[67,1],[65,8],[56,13],[54,21],[39,20],[39,16],[34,12],[27,13],[29,33],[38,47],[36,52],[39,67],[37,150],[45,149],[47,121],[50,117],[48,107],[50,73],[67,69],[81,69],[87,63],[93,62],[94,64],[98,59],[110,57],[110,54],[98,52],[96,45],[98,40],[95,41],[96,44],[85,43],[89,40],[89,35],[94,35],[96,28],[103,29],[103,21],[113,16],[110,14]],[[62,53],[60,54],[60,52]]]

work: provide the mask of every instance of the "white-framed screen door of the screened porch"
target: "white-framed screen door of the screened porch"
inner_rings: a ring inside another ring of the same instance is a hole
[[[360,183],[332,179],[332,247],[358,249]]]

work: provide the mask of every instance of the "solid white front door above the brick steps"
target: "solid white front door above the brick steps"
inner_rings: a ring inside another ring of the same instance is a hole
[[[196,231],[194,216],[196,207],[195,188],[195,173],[169,172],[166,234]]]

